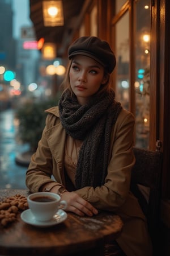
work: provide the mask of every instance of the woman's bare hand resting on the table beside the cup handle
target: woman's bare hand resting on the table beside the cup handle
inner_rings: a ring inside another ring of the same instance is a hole
[[[66,211],[68,212],[74,212],[80,216],[87,215],[90,217],[98,213],[96,208],[75,192],[64,192],[61,196],[61,200],[67,202]]]

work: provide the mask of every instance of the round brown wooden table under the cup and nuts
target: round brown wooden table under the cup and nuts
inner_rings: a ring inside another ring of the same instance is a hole
[[[0,189],[0,200],[26,190]],[[67,213],[60,224],[39,228],[25,224],[20,213],[15,222],[0,229],[0,255],[104,255],[104,243],[115,240],[122,230],[121,218],[108,212],[94,217]]]

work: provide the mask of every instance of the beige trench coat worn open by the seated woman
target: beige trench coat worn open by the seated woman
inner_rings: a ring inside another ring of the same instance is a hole
[[[31,192],[41,185],[57,181],[65,185],[63,155],[66,133],[59,121],[58,107],[49,110],[46,126],[35,154],[32,155],[26,174]],[[122,109],[112,129],[108,175],[101,187],[84,187],[76,190],[83,199],[97,209],[119,214],[124,222],[118,244],[128,256],[151,256],[152,246],[147,232],[146,218],[137,199],[129,192],[133,155],[133,115]]]

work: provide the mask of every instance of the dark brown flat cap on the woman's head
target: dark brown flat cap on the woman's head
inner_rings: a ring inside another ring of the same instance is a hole
[[[116,57],[106,41],[96,36],[82,36],[76,39],[69,47],[69,60],[75,55],[91,57],[112,73],[116,65]]]

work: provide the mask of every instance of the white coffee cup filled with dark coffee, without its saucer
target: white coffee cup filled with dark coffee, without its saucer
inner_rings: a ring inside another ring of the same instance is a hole
[[[37,221],[49,221],[58,209],[66,209],[67,203],[52,192],[32,193],[27,197],[28,207]]]

